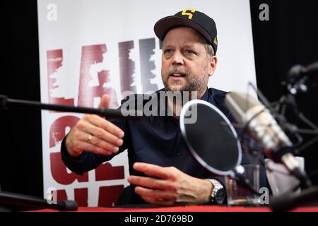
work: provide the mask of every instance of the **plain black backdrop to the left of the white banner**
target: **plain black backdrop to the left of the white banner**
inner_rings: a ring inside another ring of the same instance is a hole
[[[0,95],[40,101],[37,1],[0,1]],[[43,196],[41,114],[0,109],[3,191]]]

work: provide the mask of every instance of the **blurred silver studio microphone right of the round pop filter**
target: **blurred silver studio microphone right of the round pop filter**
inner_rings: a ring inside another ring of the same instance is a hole
[[[264,155],[274,162],[282,163],[286,169],[302,182],[305,186],[311,186],[307,174],[300,169],[300,164],[295,156],[290,153],[293,143],[278,125],[269,109],[251,95],[244,93],[228,93],[225,97],[225,105],[245,129],[258,141]]]

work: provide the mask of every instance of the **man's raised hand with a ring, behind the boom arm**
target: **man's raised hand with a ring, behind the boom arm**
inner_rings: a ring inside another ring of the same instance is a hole
[[[110,96],[103,95],[98,108],[107,108]],[[66,136],[69,155],[78,157],[84,150],[101,155],[112,155],[123,144],[124,131],[110,121],[95,115],[85,114]]]

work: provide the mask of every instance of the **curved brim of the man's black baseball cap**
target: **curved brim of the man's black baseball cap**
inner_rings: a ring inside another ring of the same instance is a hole
[[[158,20],[157,23],[155,23],[153,29],[155,30],[155,35],[157,35],[160,40],[163,40],[170,29],[178,26],[193,28],[194,30],[200,32],[201,35],[203,35],[208,40],[208,42],[212,43],[211,36],[204,28],[201,27],[201,25],[194,22],[194,20],[189,20],[181,16],[167,16],[165,18],[162,18],[161,20]]]

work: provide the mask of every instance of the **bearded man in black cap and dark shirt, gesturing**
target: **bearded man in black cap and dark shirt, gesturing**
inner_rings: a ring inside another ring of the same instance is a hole
[[[165,91],[196,91],[198,99],[216,105],[229,119],[225,92],[207,88],[216,70],[217,32],[213,19],[195,10],[184,10],[155,24],[163,43],[162,79]],[[108,107],[104,95],[100,107]],[[177,204],[223,203],[224,187],[211,179],[192,159],[182,140],[176,102],[168,100],[173,116],[143,117],[140,120],[105,120],[86,114],[61,145],[69,169],[83,174],[128,149],[128,195],[124,203]],[[210,178],[210,180],[208,180]]]

